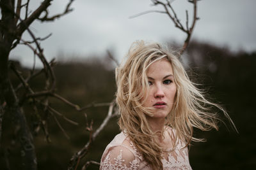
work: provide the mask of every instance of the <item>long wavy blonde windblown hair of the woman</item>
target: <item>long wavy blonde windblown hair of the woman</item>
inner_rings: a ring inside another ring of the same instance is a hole
[[[177,87],[175,103],[166,117],[166,126],[175,129],[173,149],[179,140],[186,146],[191,140],[202,141],[193,138],[193,127],[202,131],[209,131],[212,128],[218,130],[218,117],[216,113],[212,113],[212,107],[223,111],[228,117],[218,104],[205,99],[203,91],[197,89],[189,80],[188,74],[175,55],[157,43],[134,42],[129,49],[127,60],[116,68],[116,103],[120,110],[118,125],[153,169],[163,169],[163,148],[159,146],[156,132],[152,132],[147,122],[147,116],[153,117],[154,109],[143,107],[143,99],[146,98],[148,90],[148,66],[161,59],[167,59],[172,64]]]

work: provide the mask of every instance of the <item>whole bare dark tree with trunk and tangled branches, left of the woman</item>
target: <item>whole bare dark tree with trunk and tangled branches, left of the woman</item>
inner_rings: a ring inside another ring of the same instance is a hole
[[[85,106],[84,108],[79,108],[78,105],[73,104],[70,101],[68,101],[67,99],[54,93],[55,86],[56,86],[56,78],[52,71],[52,65],[54,64],[54,62],[52,61],[49,63],[46,60],[46,57],[44,55],[44,49],[40,46],[40,43],[39,43],[39,41],[42,41],[42,40],[48,38],[49,36],[51,36],[51,34],[45,38],[36,38],[36,36],[33,34],[33,32],[29,29],[29,26],[35,20],[39,19],[40,15],[42,15],[42,13],[44,13],[44,12],[45,12],[45,16],[43,18],[40,18],[41,21],[54,20],[55,18],[59,18],[65,14],[69,13],[70,11],[72,11],[72,9],[70,9],[70,6],[74,0],[70,0],[70,2],[67,4],[66,9],[63,13],[54,15],[53,17],[48,17],[47,8],[51,5],[51,1],[52,0],[44,0],[42,2],[42,4],[40,4],[40,6],[38,6],[38,8],[36,8],[36,10],[33,11],[32,13],[30,13],[28,10],[29,3],[30,3],[29,0],[27,0],[25,4],[22,4],[22,0],[17,0],[17,1],[1,0],[0,1],[1,12],[3,14],[3,16],[1,18],[1,23],[0,23],[0,27],[1,27],[0,52],[1,52],[1,55],[3,54],[3,57],[1,57],[1,59],[0,59],[0,61],[1,61],[1,64],[0,64],[0,67],[1,67],[0,68],[0,73],[1,73],[1,75],[0,75],[0,90],[1,90],[0,91],[0,94],[1,94],[0,95],[0,104],[1,104],[0,105],[0,123],[2,121],[4,111],[8,110],[10,115],[12,115],[12,117],[15,119],[15,121],[16,121],[15,124],[20,126],[19,139],[20,139],[20,145],[22,146],[22,152],[25,153],[24,154],[24,164],[26,164],[26,169],[36,169],[36,155],[35,155],[35,148],[33,146],[33,138],[31,136],[31,132],[28,129],[26,117],[24,116],[24,113],[22,110],[22,104],[24,103],[24,101],[27,100],[27,101],[29,101],[29,103],[33,104],[33,110],[35,111],[35,114],[37,114],[38,116],[39,116],[39,113],[38,113],[39,105],[38,104],[44,105],[43,107],[40,106],[40,109],[42,108],[42,110],[44,111],[43,113],[45,113],[46,118],[42,119],[41,117],[39,117],[38,120],[40,120],[40,124],[42,126],[42,129],[45,132],[47,141],[49,141],[49,133],[47,131],[47,121],[46,120],[47,120],[47,117],[49,114],[52,115],[56,124],[60,127],[61,131],[63,131],[65,136],[67,136],[67,133],[65,132],[63,127],[61,127],[61,124],[58,121],[58,118],[56,117],[56,115],[60,116],[61,118],[63,118],[64,120],[67,120],[68,122],[70,122],[72,124],[77,125],[76,122],[68,119],[63,114],[61,114],[60,112],[54,110],[54,108],[49,106],[49,104],[51,104],[49,102],[49,97],[55,97],[55,98],[59,99],[60,101],[63,101],[64,103],[67,103],[68,105],[76,108],[76,110],[79,110],[79,111],[84,110],[86,108],[93,107],[93,106],[107,106],[106,103],[101,103],[101,104],[92,103],[88,106]],[[14,3],[17,4],[16,7],[15,7]],[[22,10],[22,8],[26,8],[24,20],[22,20],[21,19],[22,17],[20,17],[20,11]],[[28,31],[29,35],[33,39],[32,41],[24,41],[21,39],[24,31]],[[21,87],[24,87],[24,89],[25,89],[25,92],[22,93],[22,95],[19,94],[17,96],[17,94],[13,90],[12,83],[10,82],[10,78],[8,77],[8,57],[9,57],[10,51],[13,48],[15,48],[19,44],[22,44],[22,43],[20,43],[20,39],[24,43],[24,45],[28,46],[34,52],[35,55],[34,55],[33,69],[26,79],[22,76],[22,73],[20,73],[15,68],[14,64],[12,64],[12,62],[10,63],[11,69],[13,70],[13,72],[19,78],[19,81],[20,81],[20,85],[17,86],[16,92]],[[44,66],[44,69],[42,69],[41,71],[38,71],[36,73],[34,73],[34,71],[35,71],[35,56],[37,56],[41,60],[43,66]],[[29,80],[31,80],[35,76],[38,76],[41,73],[45,74],[45,90],[41,91],[41,92],[34,92],[34,90],[29,85],[28,82],[29,82]],[[41,97],[41,98],[40,98],[40,100],[38,100],[38,99],[36,99],[36,97]],[[28,100],[29,98],[31,98],[32,100]],[[4,107],[4,103],[6,103],[5,104],[6,107]],[[37,108],[37,106],[38,106],[38,108]],[[34,130],[38,132],[39,130],[37,127],[39,127],[39,126],[37,125],[35,127],[36,127],[36,129],[34,129]],[[90,136],[92,137],[92,138],[90,138],[90,143],[92,143],[93,139],[95,138],[93,136],[92,124],[90,125],[90,127],[88,127],[88,130],[90,131]],[[1,139],[1,132],[2,132],[2,129],[0,127],[0,139]],[[97,134],[97,133],[99,133],[99,132],[96,131],[95,134]]]

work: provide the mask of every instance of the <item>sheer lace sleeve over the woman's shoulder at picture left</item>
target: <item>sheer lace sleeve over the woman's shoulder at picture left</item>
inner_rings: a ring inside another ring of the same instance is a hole
[[[131,150],[125,146],[114,146],[102,155],[100,170],[138,169],[138,161]]]

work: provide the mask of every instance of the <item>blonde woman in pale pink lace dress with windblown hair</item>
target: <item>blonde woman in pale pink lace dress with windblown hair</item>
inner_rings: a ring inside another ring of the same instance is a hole
[[[118,125],[100,169],[191,169],[193,127],[218,129],[216,107],[189,80],[180,61],[157,43],[137,41],[116,69]],[[228,117],[228,115],[227,115]],[[229,117],[228,117],[229,118]]]

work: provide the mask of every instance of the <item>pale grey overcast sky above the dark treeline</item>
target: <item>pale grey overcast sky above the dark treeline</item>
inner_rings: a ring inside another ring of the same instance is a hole
[[[40,2],[32,1],[34,4],[31,4],[30,10],[35,9]],[[63,11],[66,2],[53,1],[50,14]],[[113,54],[121,60],[131,43],[137,39],[162,43],[184,41],[186,34],[176,29],[167,15],[148,13],[129,18],[147,10],[162,10],[161,6],[150,4],[150,0],[76,0],[72,4],[74,11],[55,22],[35,22],[31,30],[42,37],[52,33],[50,38],[41,43],[49,60],[57,56],[58,59],[67,60],[67,57],[106,55],[107,49],[113,50]],[[185,10],[191,13],[193,6],[186,0],[175,0],[172,5],[184,24]],[[192,39],[230,46],[234,51],[255,51],[255,7],[255,0],[199,1],[200,20],[196,22]],[[23,39],[31,38],[24,34]],[[33,62],[33,53],[22,45],[15,48],[11,56],[11,59],[19,59],[26,66]]]

